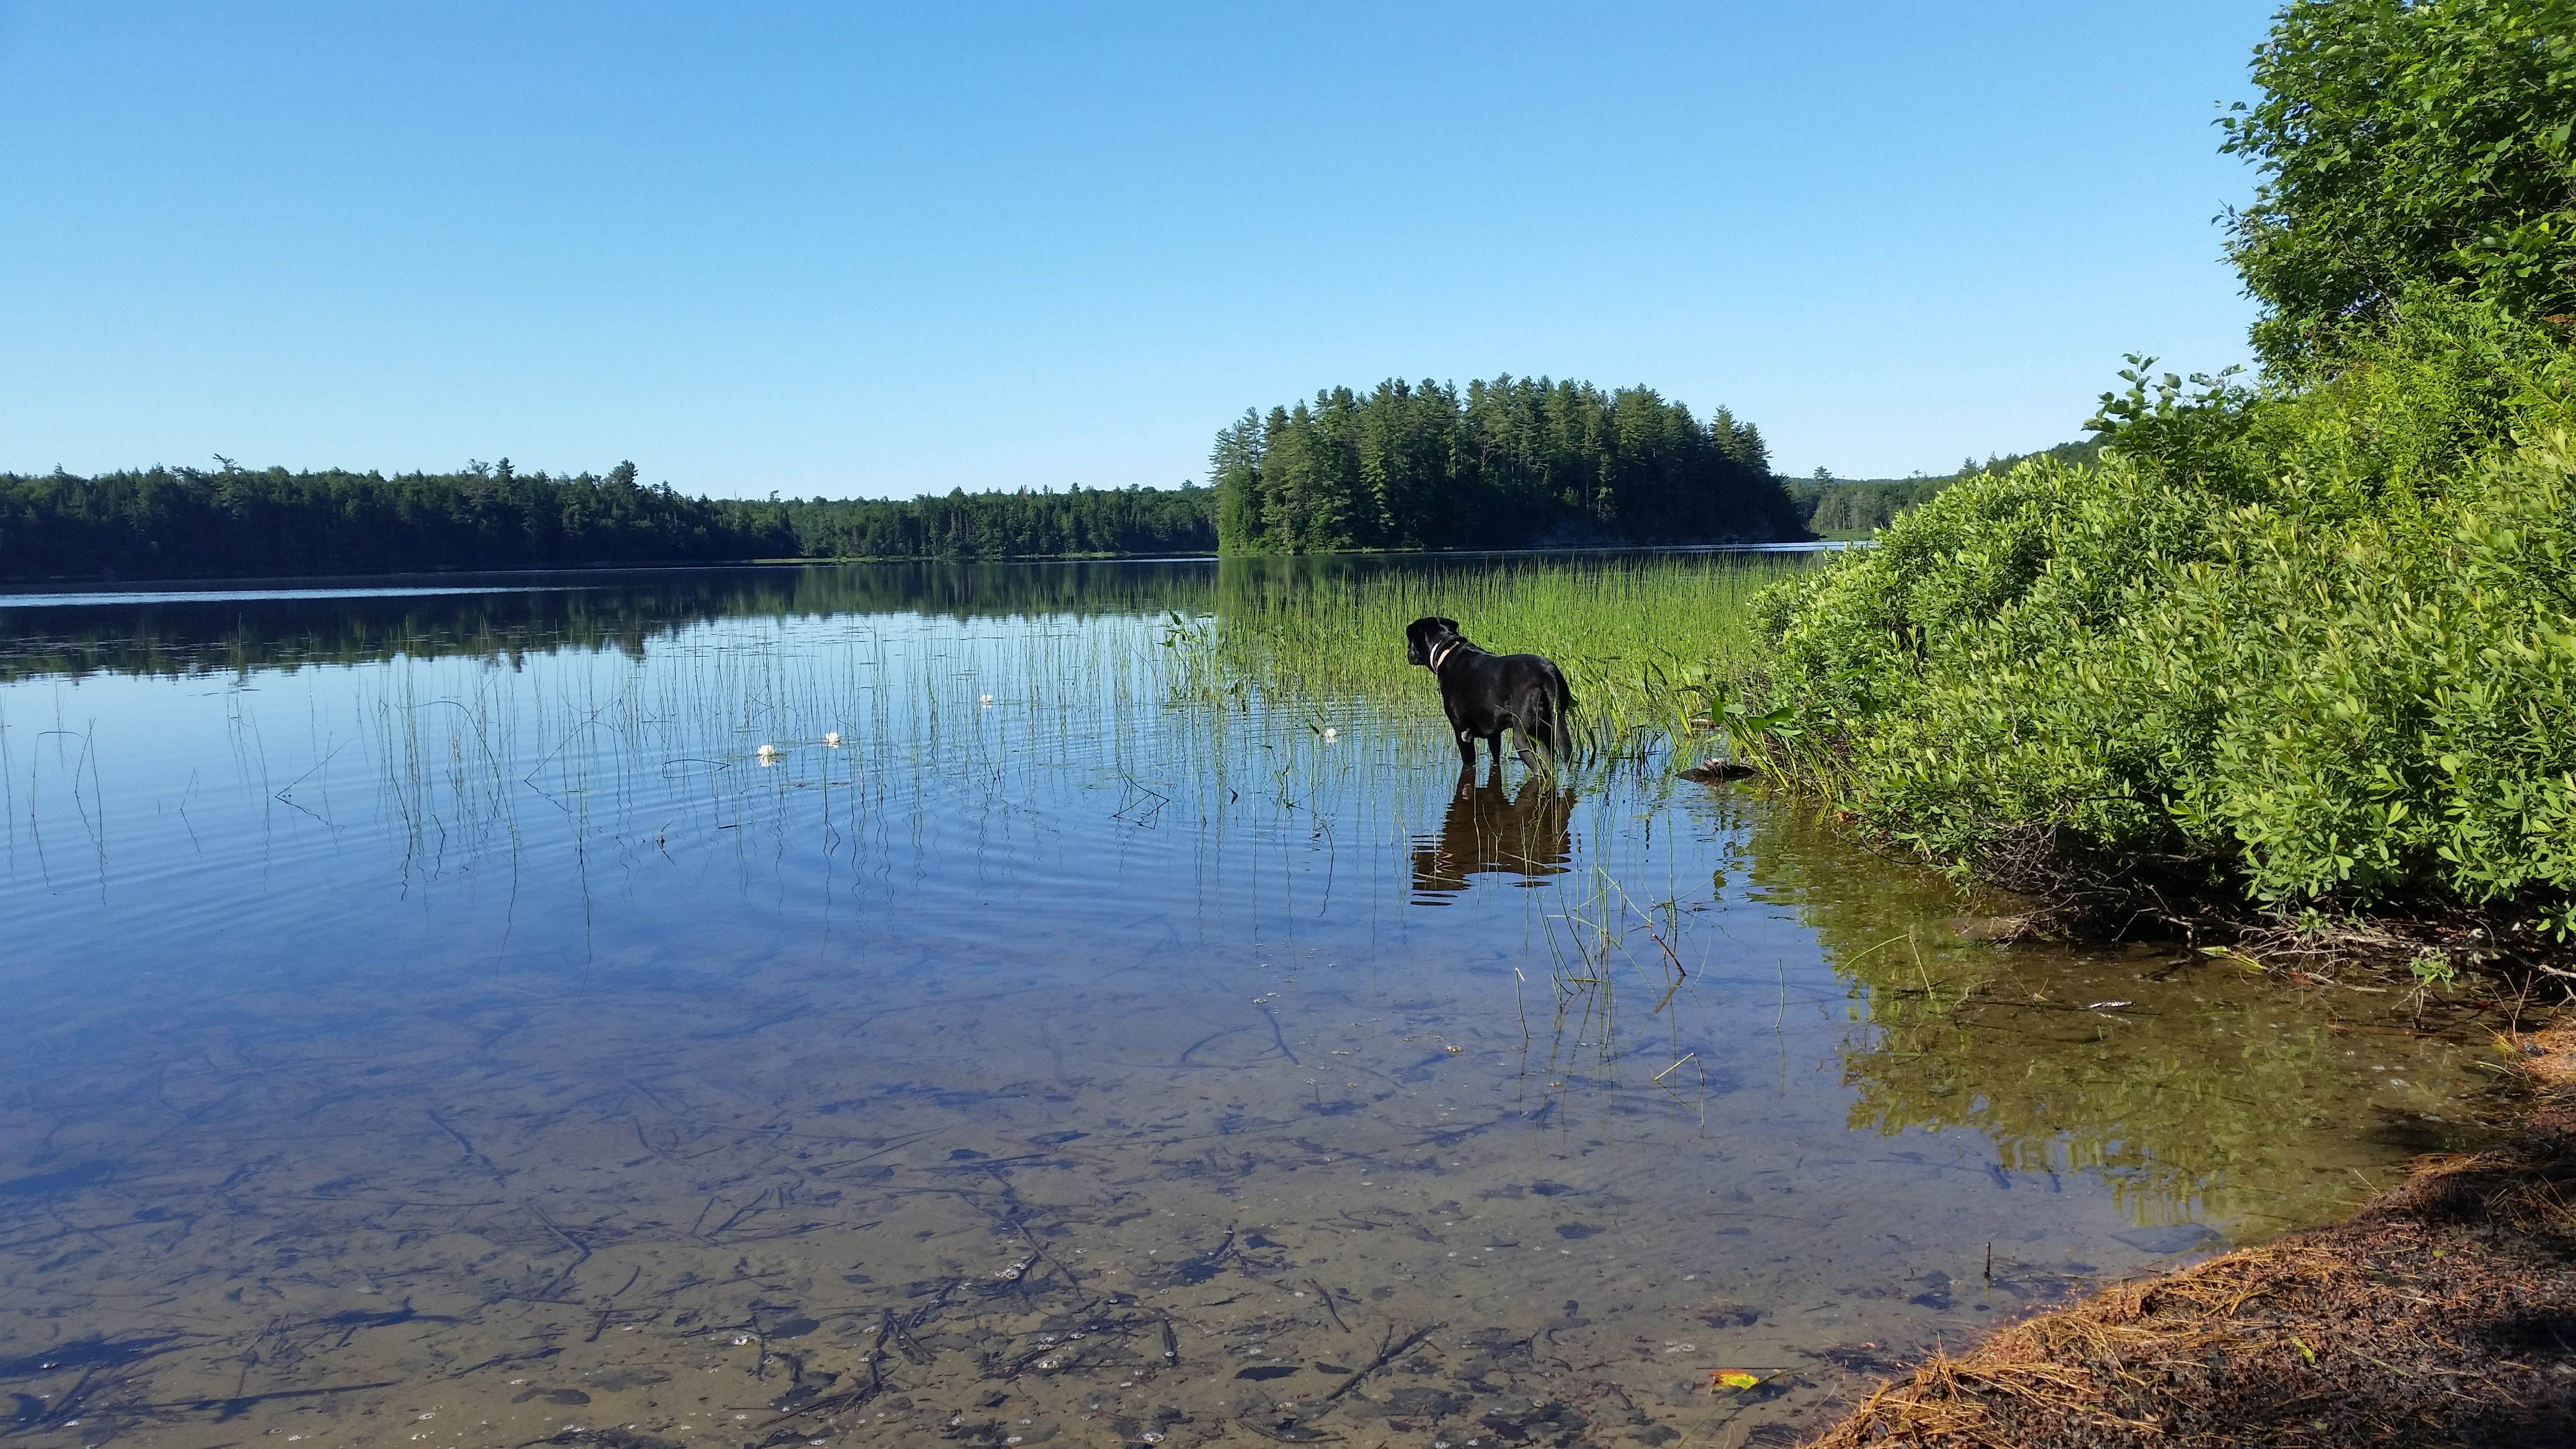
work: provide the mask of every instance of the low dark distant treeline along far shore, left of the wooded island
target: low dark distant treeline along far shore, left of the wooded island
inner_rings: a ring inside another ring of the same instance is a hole
[[[0,578],[260,578],[412,570],[1213,552],[1206,487],[716,500],[605,477],[137,469],[0,474]]]

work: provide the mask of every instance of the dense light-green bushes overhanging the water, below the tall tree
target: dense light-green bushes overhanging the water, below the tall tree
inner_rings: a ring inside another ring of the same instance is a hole
[[[2576,353],[2419,291],[2285,392],[1950,487],[1775,590],[1780,771],[1968,869],[2576,910]]]

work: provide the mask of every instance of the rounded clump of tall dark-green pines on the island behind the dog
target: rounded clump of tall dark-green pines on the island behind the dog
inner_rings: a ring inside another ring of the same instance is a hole
[[[1226,554],[1806,536],[1752,423],[1543,376],[1247,410],[1208,482]]]

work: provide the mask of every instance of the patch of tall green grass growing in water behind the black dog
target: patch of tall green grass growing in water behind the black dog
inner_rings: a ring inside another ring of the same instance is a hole
[[[1752,598],[1806,557],[1510,559],[1316,567],[1229,559],[1216,614],[1172,616],[1175,696],[1249,709],[1381,706],[1422,717],[1404,627],[1437,614],[1497,655],[1548,655],[1589,758],[1636,761],[1708,732],[1754,652]]]

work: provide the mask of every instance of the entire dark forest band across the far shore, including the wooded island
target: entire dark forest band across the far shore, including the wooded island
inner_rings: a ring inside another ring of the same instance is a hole
[[[2094,443],[2048,449],[2092,462]],[[1965,464],[1960,477],[2022,456]],[[1213,487],[693,498],[608,474],[155,467],[0,474],[0,580],[299,578],[742,559],[1069,559],[1868,534],[1950,477],[1770,474],[1723,407],[1587,382],[1383,382],[1218,433]]]

